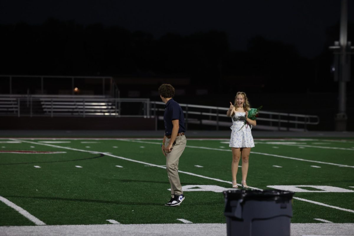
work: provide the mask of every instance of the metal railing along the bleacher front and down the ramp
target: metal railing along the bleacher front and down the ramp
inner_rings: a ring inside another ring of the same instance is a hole
[[[80,95],[0,95],[2,116],[70,116],[70,117],[141,117],[155,118],[155,129],[163,120],[165,103],[148,98],[109,98]],[[185,126],[193,129],[230,127],[228,108],[180,104]],[[318,125],[319,116],[306,114],[259,111],[254,129],[268,131],[307,131],[309,125]]]

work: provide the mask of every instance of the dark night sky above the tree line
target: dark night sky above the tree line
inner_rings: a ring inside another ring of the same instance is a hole
[[[354,2],[348,2],[348,21],[354,22]],[[151,33],[155,38],[168,32],[189,35],[218,30],[227,33],[235,50],[245,50],[247,40],[260,35],[294,45],[302,56],[312,58],[324,48],[326,28],[339,22],[340,5],[340,0],[15,0],[1,1],[0,23],[42,24],[55,18],[84,25],[118,25],[132,32]]]

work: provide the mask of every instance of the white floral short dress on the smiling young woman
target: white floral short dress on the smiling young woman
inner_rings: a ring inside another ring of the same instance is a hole
[[[234,112],[232,115],[232,126],[230,127],[232,132],[229,145],[232,148],[253,148],[255,146],[251,133],[252,126],[244,125],[245,115],[245,112]]]

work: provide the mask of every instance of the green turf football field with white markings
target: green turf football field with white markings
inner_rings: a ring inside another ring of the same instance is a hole
[[[0,226],[225,223],[228,140],[187,137],[178,207],[164,206],[170,184],[160,143],[1,139]],[[353,157],[353,139],[255,139],[247,184],[295,191],[292,223],[354,223]],[[237,178],[240,184],[241,167]]]

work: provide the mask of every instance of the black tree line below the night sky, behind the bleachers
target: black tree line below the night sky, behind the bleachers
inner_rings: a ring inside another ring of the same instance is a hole
[[[313,59],[260,36],[245,51],[231,50],[222,31],[155,39],[117,26],[48,19],[42,25],[0,25],[0,32],[0,74],[181,76],[215,92],[230,92],[233,86],[265,92],[336,91],[328,46],[338,40],[339,25],[328,29],[326,46]],[[348,39],[352,32],[349,24]]]

